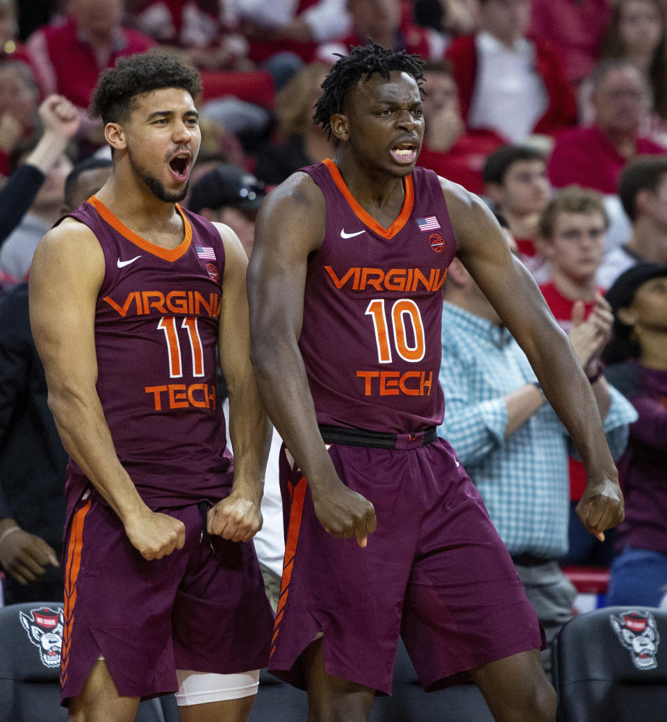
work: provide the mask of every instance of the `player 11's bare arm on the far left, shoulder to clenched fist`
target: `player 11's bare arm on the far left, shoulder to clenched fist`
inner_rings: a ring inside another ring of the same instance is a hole
[[[104,276],[92,232],[68,219],[43,238],[30,270],[30,324],[48,383],[48,405],[66,451],[121,519],[146,559],[183,547],[183,524],[153,513],[116,456],[97,396],[95,303]]]

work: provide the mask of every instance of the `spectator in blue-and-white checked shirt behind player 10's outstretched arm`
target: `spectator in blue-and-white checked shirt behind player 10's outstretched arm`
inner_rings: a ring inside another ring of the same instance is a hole
[[[447,406],[438,432],[484,498],[550,644],[570,619],[575,597],[557,562],[567,552],[572,441],[546,403],[528,358],[456,258],[444,289],[440,383]],[[601,310],[570,331],[584,368],[601,353],[612,323]],[[618,458],[637,414],[602,375],[589,380]],[[549,672],[550,650],[542,655]]]

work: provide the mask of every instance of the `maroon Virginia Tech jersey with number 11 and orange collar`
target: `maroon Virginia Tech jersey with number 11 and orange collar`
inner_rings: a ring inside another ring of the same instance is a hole
[[[212,223],[176,207],[185,238],[171,250],[136,235],[95,196],[71,214],[105,259],[97,394],[121,464],[154,506],[219,499],[232,475],[216,388],[224,245]],[[87,480],[71,460],[67,483],[72,504]]]

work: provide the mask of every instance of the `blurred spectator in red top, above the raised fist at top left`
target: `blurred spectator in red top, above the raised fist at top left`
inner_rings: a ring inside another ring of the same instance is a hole
[[[105,68],[116,58],[143,53],[154,42],[122,25],[123,0],[66,0],[67,17],[32,33],[27,48],[43,95],[58,92],[82,110]],[[90,131],[90,121],[84,132]]]

